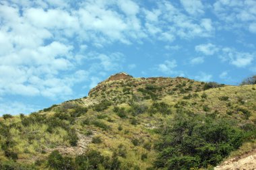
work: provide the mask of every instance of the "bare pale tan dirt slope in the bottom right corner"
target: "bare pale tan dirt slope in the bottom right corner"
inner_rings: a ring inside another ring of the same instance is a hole
[[[224,161],[214,170],[256,170],[256,150]]]

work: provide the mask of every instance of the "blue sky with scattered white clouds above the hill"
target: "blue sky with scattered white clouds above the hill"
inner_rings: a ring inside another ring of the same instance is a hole
[[[122,71],[238,85],[256,74],[255,42],[255,0],[0,0],[0,115]]]

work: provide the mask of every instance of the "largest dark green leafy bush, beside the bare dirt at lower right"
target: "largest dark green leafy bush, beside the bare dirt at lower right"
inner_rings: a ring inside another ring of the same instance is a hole
[[[176,116],[162,129],[162,139],[156,143],[160,154],[154,166],[158,169],[215,166],[241,146],[243,139],[243,131],[230,120]]]

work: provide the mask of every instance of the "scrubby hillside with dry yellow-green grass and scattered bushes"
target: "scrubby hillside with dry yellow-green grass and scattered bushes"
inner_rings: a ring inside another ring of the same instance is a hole
[[[110,76],[0,118],[0,169],[213,169],[256,148],[256,85]]]

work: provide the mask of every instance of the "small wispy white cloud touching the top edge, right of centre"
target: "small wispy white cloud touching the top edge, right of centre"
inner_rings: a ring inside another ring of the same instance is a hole
[[[185,10],[191,15],[198,15],[204,13],[201,0],[181,0],[181,4],[185,8]]]

